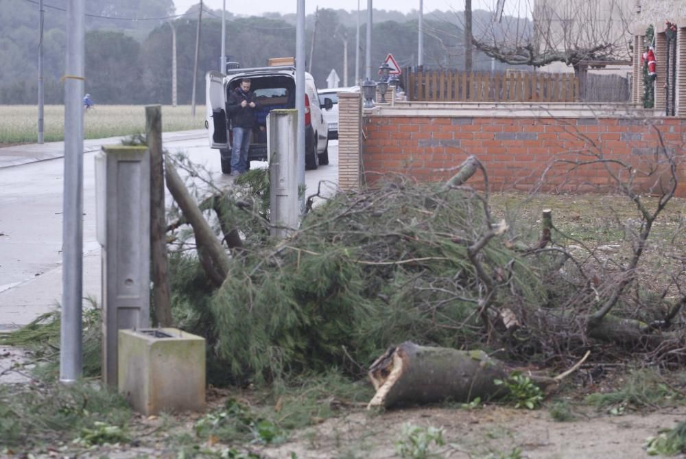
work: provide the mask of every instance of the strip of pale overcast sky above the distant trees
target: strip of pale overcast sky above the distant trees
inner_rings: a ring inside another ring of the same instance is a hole
[[[200,0],[174,0],[176,14],[185,13],[191,5],[199,3]],[[495,10],[496,0],[473,0],[473,10]],[[212,10],[221,9],[224,0],[204,0],[204,4]],[[516,14],[514,3],[528,3],[521,0],[506,0],[506,14]],[[348,11],[357,10],[357,0],[305,0],[305,12],[314,13],[315,8],[333,8]],[[295,13],[298,7],[298,0],[226,0],[226,11],[233,14],[256,14],[265,12],[279,12],[281,14]],[[359,8],[366,10],[367,0],[359,0]],[[375,10],[396,10],[408,13],[419,9],[419,0],[373,0],[372,8]],[[424,12],[434,10],[458,10],[464,9],[463,0],[424,0]],[[512,11],[514,10],[514,11]],[[521,16],[526,14],[522,12]],[[364,18],[363,18],[364,20]]]

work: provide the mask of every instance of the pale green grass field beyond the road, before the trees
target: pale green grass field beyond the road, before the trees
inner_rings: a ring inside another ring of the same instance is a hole
[[[162,130],[191,130],[204,127],[203,105],[196,106],[196,117],[191,106],[162,107]],[[46,105],[44,114],[44,140],[64,140],[64,106]],[[38,139],[38,107],[33,105],[0,106],[0,145],[34,143]],[[145,106],[98,105],[84,116],[84,138],[100,139],[145,131]]]

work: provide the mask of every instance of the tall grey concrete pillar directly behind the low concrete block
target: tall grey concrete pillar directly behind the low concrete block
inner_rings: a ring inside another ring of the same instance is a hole
[[[95,156],[102,245],[102,379],[117,385],[117,334],[150,327],[150,154],[103,147]]]

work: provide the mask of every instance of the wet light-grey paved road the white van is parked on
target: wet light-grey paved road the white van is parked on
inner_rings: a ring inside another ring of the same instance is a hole
[[[95,239],[95,152],[119,138],[84,142],[84,296],[100,298],[100,247]],[[207,147],[204,130],[169,132],[163,143],[185,152],[209,170],[215,185],[233,178],[220,171],[217,150]],[[62,297],[62,177],[64,144],[0,148],[0,330],[25,325],[56,307]],[[330,164],[307,171],[309,193],[320,181],[338,183],[338,141],[329,145]],[[265,167],[253,162],[251,167]],[[169,198],[167,198],[169,199]],[[169,202],[169,200],[167,200]]]

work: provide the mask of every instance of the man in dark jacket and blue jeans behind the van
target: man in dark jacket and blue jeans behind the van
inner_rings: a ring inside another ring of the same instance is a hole
[[[250,92],[250,79],[241,80],[233,93],[228,96],[228,114],[233,126],[231,148],[231,175],[239,176],[248,171],[248,148],[255,126],[257,103],[255,94]]]

